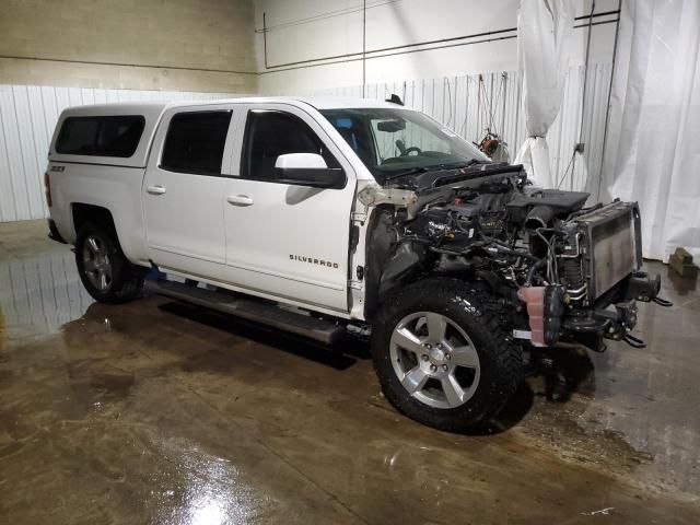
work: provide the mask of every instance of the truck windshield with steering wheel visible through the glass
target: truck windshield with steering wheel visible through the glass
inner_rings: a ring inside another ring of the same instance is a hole
[[[320,112],[381,184],[430,167],[457,167],[489,158],[419,112],[394,108]]]

